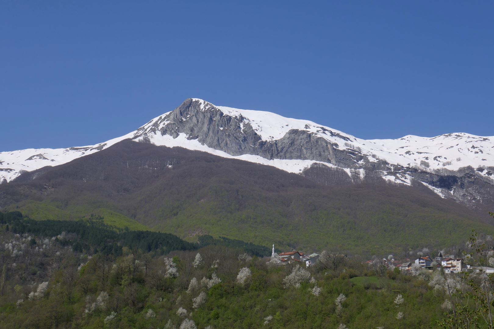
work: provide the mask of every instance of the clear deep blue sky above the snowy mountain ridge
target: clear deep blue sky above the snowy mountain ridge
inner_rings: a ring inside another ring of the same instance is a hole
[[[0,1],[0,151],[189,97],[360,138],[494,135],[493,1]]]

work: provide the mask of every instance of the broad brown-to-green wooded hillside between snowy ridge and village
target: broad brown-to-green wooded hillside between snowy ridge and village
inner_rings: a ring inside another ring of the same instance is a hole
[[[494,233],[463,206],[420,188],[325,186],[269,166],[131,141],[1,184],[0,206],[35,219],[99,214],[181,237],[361,254],[463,244],[472,228]]]

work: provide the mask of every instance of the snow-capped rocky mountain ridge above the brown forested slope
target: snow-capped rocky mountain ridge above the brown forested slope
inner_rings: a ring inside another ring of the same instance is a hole
[[[494,137],[451,133],[433,138],[363,140],[307,120],[188,99],[136,131],[93,146],[0,152],[0,182],[23,171],[72,161],[124,139],[181,146],[306,173],[316,167],[411,185],[421,182],[445,198],[475,207],[494,199]]]

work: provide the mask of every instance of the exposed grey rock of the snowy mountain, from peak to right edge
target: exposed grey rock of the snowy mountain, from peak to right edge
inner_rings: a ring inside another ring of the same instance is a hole
[[[152,141],[156,134],[169,135],[174,139],[182,134],[188,140],[197,140],[201,145],[233,156],[251,154],[268,160],[312,160],[318,163],[305,168],[302,174],[318,183],[391,182],[412,185],[420,182],[442,197],[470,208],[484,209],[494,201],[492,167],[467,166],[449,170],[444,166],[427,168],[426,165],[391,163],[366,152],[359,146],[365,144],[361,140],[311,123],[305,124],[303,129],[287,129],[281,138],[263,138],[258,129],[258,126],[252,125],[252,119],[242,112],[223,110],[202,100],[188,99],[177,109],[141,127],[134,138]],[[410,150],[404,153],[413,155]],[[427,160],[437,161],[443,157],[430,152],[422,153],[427,153],[428,156],[424,157]]]

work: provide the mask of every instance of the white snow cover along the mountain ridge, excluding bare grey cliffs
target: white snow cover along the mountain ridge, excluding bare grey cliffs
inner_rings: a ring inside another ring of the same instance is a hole
[[[204,100],[193,100],[201,103],[202,110],[216,108],[221,110],[225,115],[242,116],[244,121],[241,129],[244,129],[244,122],[248,122],[256,133],[265,141],[279,140],[290,129],[298,129],[313,133],[331,143],[337,143],[339,149],[359,150],[362,154],[366,154],[371,161],[383,159],[394,165],[420,167],[423,171],[432,171],[434,169],[442,168],[454,171],[466,166],[471,166],[473,168],[494,166],[493,136],[481,137],[465,133],[452,133],[432,138],[408,135],[395,140],[363,140],[308,120],[286,118],[276,113],[266,111],[239,110],[221,106],[215,107]],[[55,149],[30,148],[18,151],[0,152],[0,182],[11,181],[23,171],[33,171],[44,166],[56,166],[67,163],[81,156],[112,146],[127,138],[140,141],[142,140],[142,137],[137,137],[137,135],[140,135],[143,130],[147,132],[146,136],[151,142],[158,146],[181,146],[191,150],[205,151],[222,157],[270,165],[292,173],[299,173],[313,163],[323,163],[332,166],[329,163],[312,160],[268,160],[252,154],[232,156],[224,151],[202,145],[197,140],[188,140],[185,134],[180,134],[175,139],[168,135],[162,136],[159,133],[159,127],[168,122],[160,121],[168,113],[169,112],[154,118],[136,131],[97,145]],[[188,117],[183,118],[183,120],[187,119]],[[153,124],[156,122],[160,122],[158,129],[153,127]],[[219,129],[223,128],[220,127]],[[349,169],[345,170],[350,172]],[[409,178],[406,176],[401,177],[402,180],[397,180],[395,176],[383,173],[383,177],[397,183],[410,183]]]

